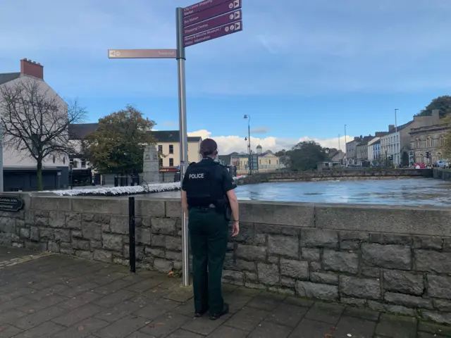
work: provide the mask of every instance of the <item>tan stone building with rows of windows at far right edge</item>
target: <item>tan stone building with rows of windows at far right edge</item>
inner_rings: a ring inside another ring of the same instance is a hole
[[[445,159],[443,158],[443,147],[446,144],[445,134],[450,129],[449,123],[411,128],[409,164],[435,164],[437,161]],[[429,158],[426,153],[429,153]]]

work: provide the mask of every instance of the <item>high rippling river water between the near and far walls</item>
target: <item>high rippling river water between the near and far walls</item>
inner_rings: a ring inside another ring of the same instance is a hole
[[[273,182],[240,185],[235,192],[240,200],[451,206],[451,182],[432,178]],[[180,192],[154,196],[179,197]]]

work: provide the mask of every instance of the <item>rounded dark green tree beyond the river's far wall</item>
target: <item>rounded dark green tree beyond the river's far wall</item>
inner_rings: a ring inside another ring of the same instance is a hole
[[[318,163],[328,156],[326,149],[314,141],[299,142],[287,155],[290,157],[290,169],[296,171],[316,169]]]

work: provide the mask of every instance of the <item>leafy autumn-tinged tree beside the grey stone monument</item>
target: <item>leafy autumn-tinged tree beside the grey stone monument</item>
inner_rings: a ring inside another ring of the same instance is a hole
[[[142,173],[144,147],[155,144],[155,124],[132,106],[111,113],[83,141],[85,158],[98,173]]]

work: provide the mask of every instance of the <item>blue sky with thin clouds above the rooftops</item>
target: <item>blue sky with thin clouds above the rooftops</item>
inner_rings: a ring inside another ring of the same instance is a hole
[[[248,122],[252,149],[343,149],[395,124],[395,108],[401,125],[451,92],[450,0],[242,1],[242,32],[186,49],[187,129],[221,154],[246,151]],[[3,1],[0,73],[29,58],[86,122],[132,104],[178,130],[177,62],[107,50],[175,48],[175,7],[193,3]]]

